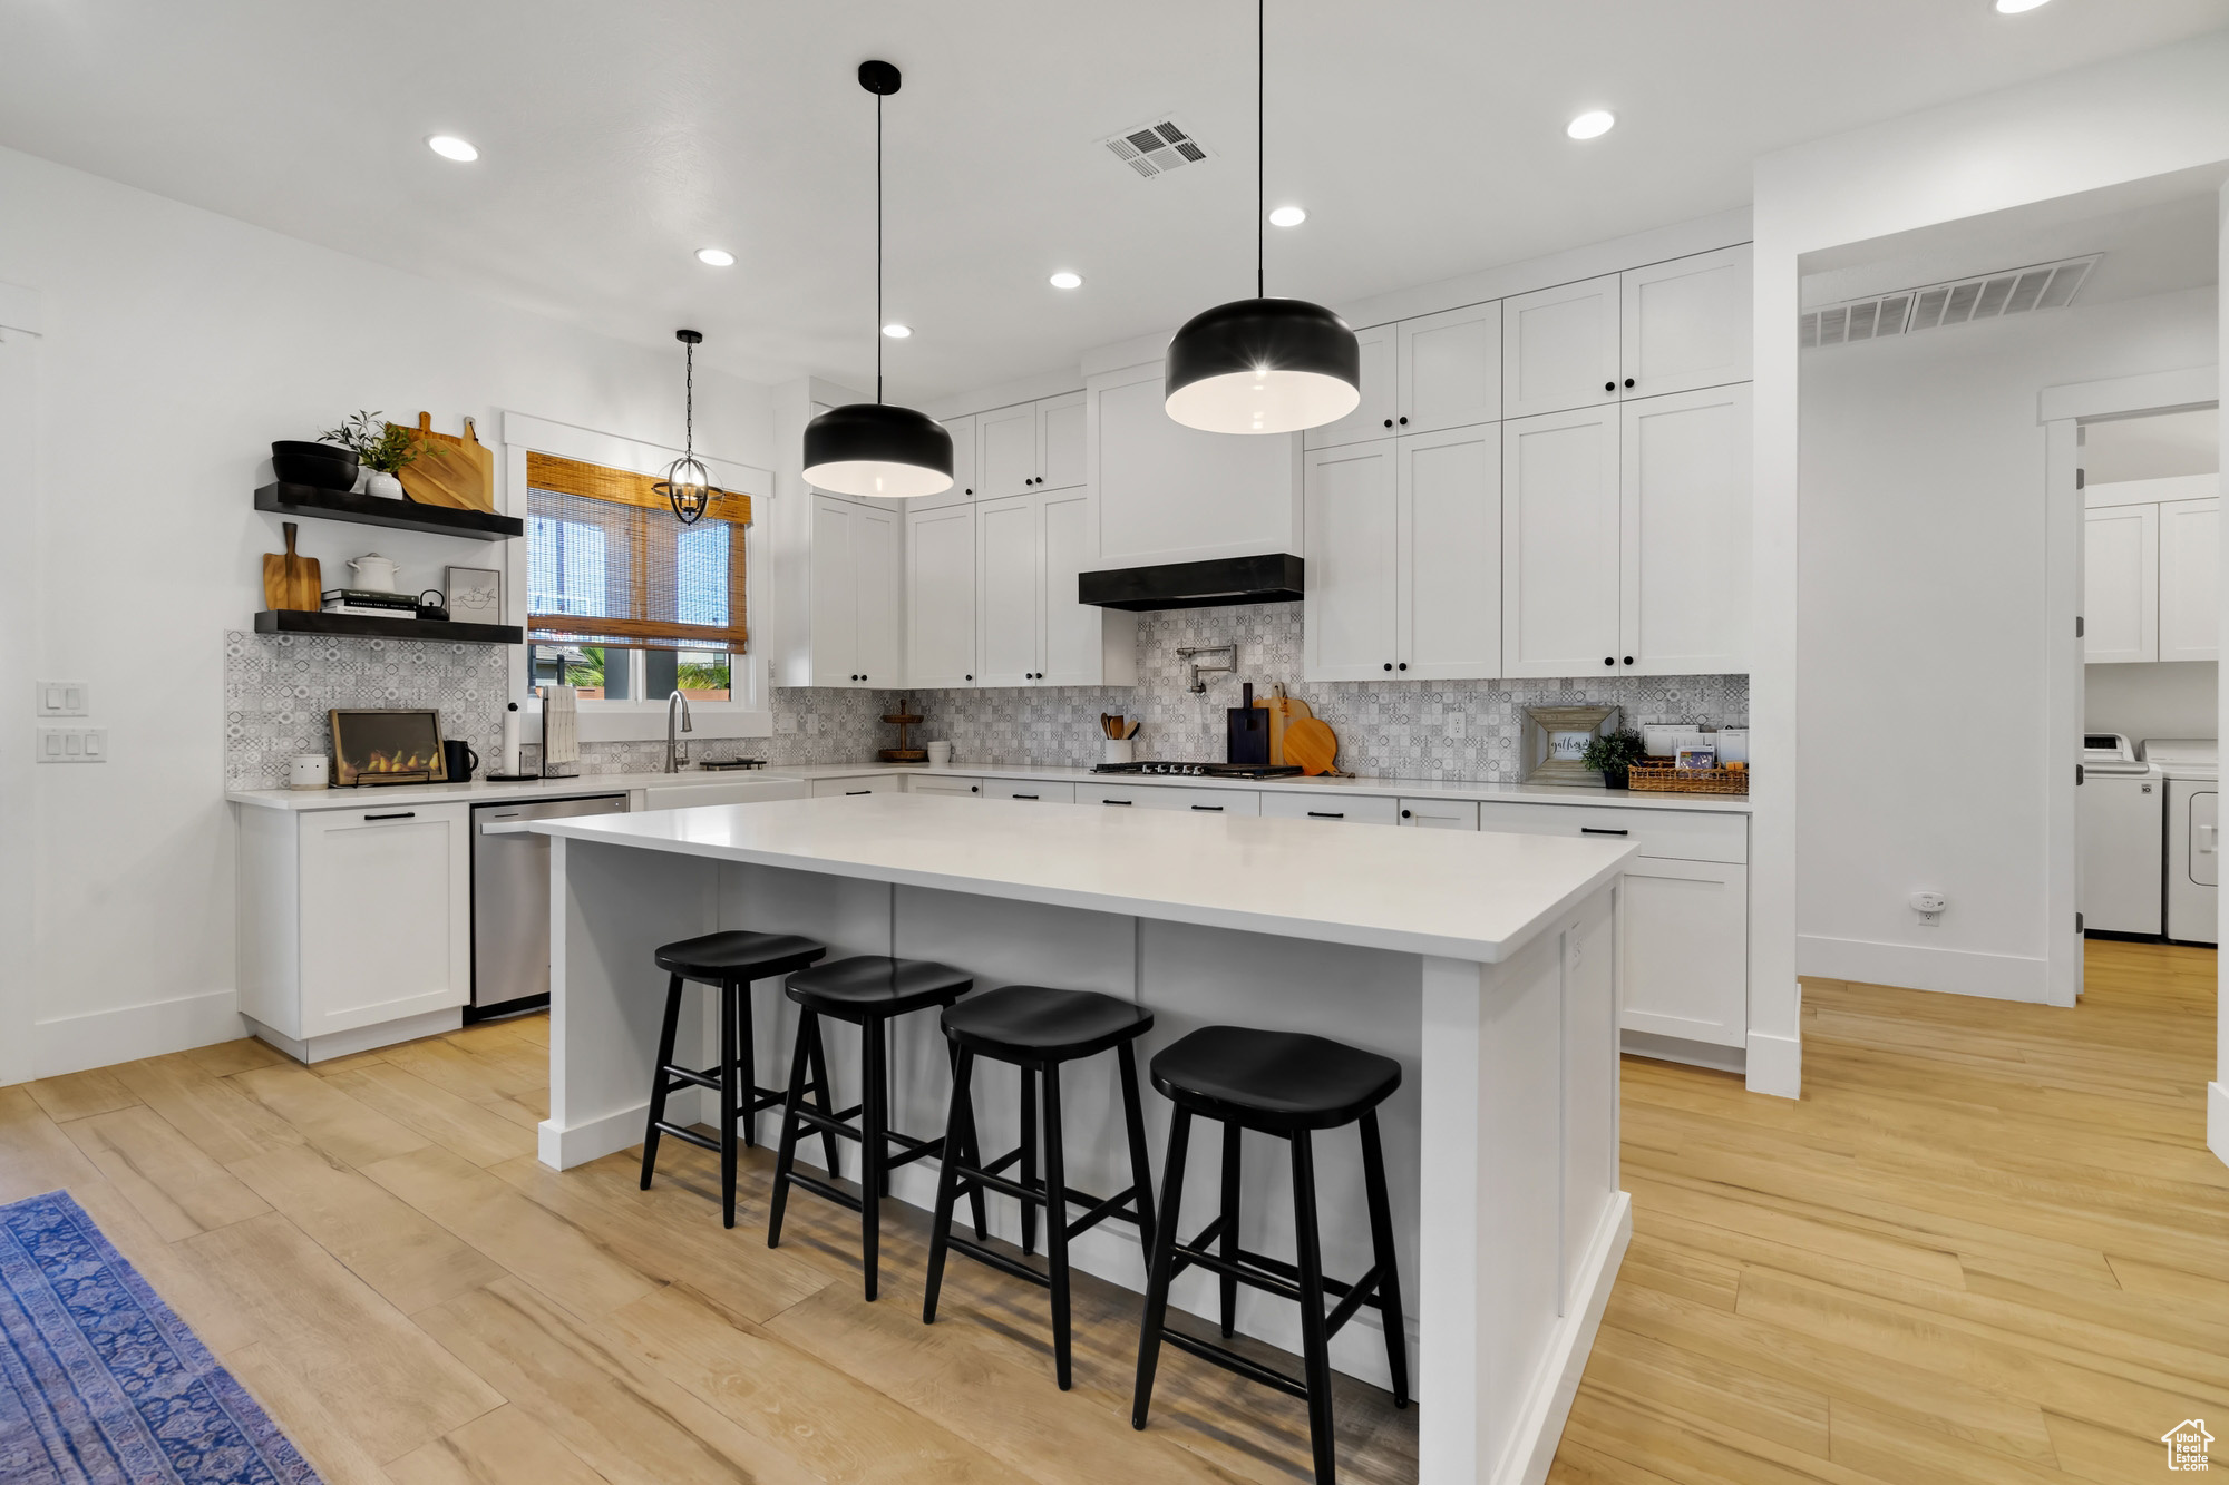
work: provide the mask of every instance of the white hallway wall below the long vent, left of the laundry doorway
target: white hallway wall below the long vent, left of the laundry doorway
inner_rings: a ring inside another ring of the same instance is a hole
[[[2196,290],[1803,355],[1799,972],[2046,999],[2037,392],[2207,366],[2213,326]]]

